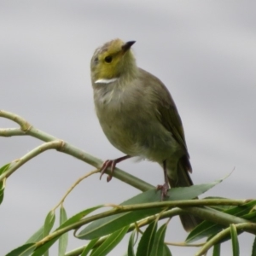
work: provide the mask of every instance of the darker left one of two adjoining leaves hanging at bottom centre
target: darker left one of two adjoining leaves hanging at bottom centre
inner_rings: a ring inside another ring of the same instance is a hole
[[[157,221],[148,225],[148,228],[144,231],[141,241],[138,244],[136,256],[150,256],[154,244],[156,229]]]

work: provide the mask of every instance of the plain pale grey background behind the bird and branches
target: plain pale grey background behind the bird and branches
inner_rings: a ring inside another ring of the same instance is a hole
[[[136,40],[137,64],[171,91],[183,119],[194,183],[208,183],[235,171],[203,195],[255,198],[256,2],[93,1],[0,2],[0,109],[17,113],[40,130],[102,160],[122,154],[108,143],[96,119],[90,58],[113,39]],[[0,127],[15,127],[0,119]],[[0,137],[0,166],[42,142]],[[126,160],[120,168],[154,185],[160,166]],[[47,212],[72,183],[94,167],[54,150],[39,155],[7,181],[1,206],[0,255],[20,246],[44,223]],[[87,207],[119,203],[139,191],[113,178],[90,177],[65,202],[71,217]],[[168,241],[183,241],[178,218]],[[68,250],[86,241],[72,239]],[[242,235],[249,255],[253,236]],[[115,249],[125,253],[126,243]],[[225,243],[224,255],[231,250]],[[190,256],[195,248],[171,247]],[[56,255],[53,250],[50,255]]]

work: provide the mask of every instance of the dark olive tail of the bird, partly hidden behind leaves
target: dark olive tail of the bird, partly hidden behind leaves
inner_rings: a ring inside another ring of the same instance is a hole
[[[189,159],[184,156],[182,159],[179,160],[177,163],[177,176],[175,179],[172,179],[171,177],[168,177],[169,183],[171,185],[171,188],[177,188],[177,187],[189,187],[193,185],[193,182],[191,180],[191,177],[189,176],[189,171],[191,171],[192,168],[189,163]],[[180,215],[181,222],[183,224],[183,228],[186,231],[193,230],[196,225],[201,223],[200,218],[196,218],[195,216],[191,214],[183,214]]]

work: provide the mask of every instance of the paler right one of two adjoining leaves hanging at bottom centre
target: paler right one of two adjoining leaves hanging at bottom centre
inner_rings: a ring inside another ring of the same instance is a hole
[[[165,237],[166,237],[167,224],[168,223],[163,224],[160,227],[160,229],[157,230],[156,236],[155,236],[155,239],[154,239],[154,244],[153,244],[153,247],[152,247],[152,252],[151,252],[150,256],[155,256],[155,255],[166,256]]]

